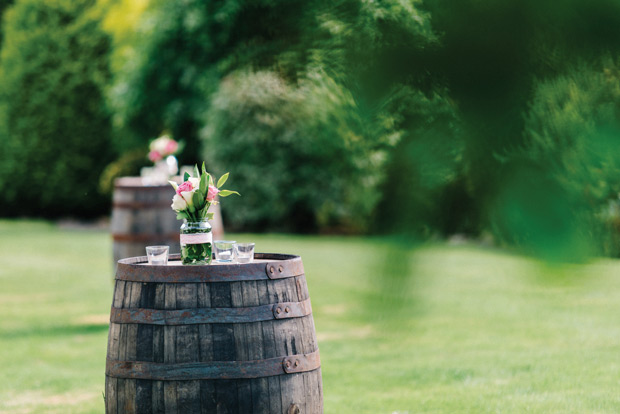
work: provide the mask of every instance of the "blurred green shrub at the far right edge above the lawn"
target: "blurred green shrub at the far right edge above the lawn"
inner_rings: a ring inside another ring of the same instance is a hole
[[[530,201],[547,206],[531,210],[532,223],[542,218],[557,223],[546,227],[547,235],[538,231],[548,245],[569,243],[583,250],[589,244],[590,249],[603,247],[606,254],[620,253],[614,241],[617,218],[609,214],[610,202],[620,192],[618,137],[620,70],[615,64],[581,66],[537,84],[526,117],[524,154],[539,171],[530,182],[538,188],[549,183],[547,191],[540,188]],[[521,226],[515,233],[526,230]],[[537,232],[531,229],[532,234]],[[557,236],[555,242],[550,234]]]

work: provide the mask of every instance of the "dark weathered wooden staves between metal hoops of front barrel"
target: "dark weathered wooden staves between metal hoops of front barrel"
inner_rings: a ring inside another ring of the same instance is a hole
[[[117,308],[253,307],[309,298],[304,275],[279,280],[144,283],[117,280]],[[312,314],[252,323],[110,324],[109,360],[254,361],[318,351]],[[246,379],[141,380],[106,376],[106,412],[322,413],[320,368]]]

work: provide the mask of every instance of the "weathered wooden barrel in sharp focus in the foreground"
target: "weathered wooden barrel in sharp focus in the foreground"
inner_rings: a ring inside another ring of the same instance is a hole
[[[105,406],[116,413],[322,413],[299,256],[248,264],[119,261]]]

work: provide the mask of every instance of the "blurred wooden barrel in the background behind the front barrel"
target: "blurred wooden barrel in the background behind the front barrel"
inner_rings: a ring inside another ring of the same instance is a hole
[[[142,256],[146,246],[167,245],[180,252],[181,221],[170,208],[174,189],[170,184],[143,185],[140,177],[122,177],[114,182],[111,232],[114,264],[127,257]],[[213,206],[213,238],[223,237],[219,205]]]

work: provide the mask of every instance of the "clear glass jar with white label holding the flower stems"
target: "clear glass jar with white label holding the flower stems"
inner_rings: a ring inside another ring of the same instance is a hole
[[[183,220],[181,225],[181,262],[184,265],[211,263],[213,236],[207,219]]]

